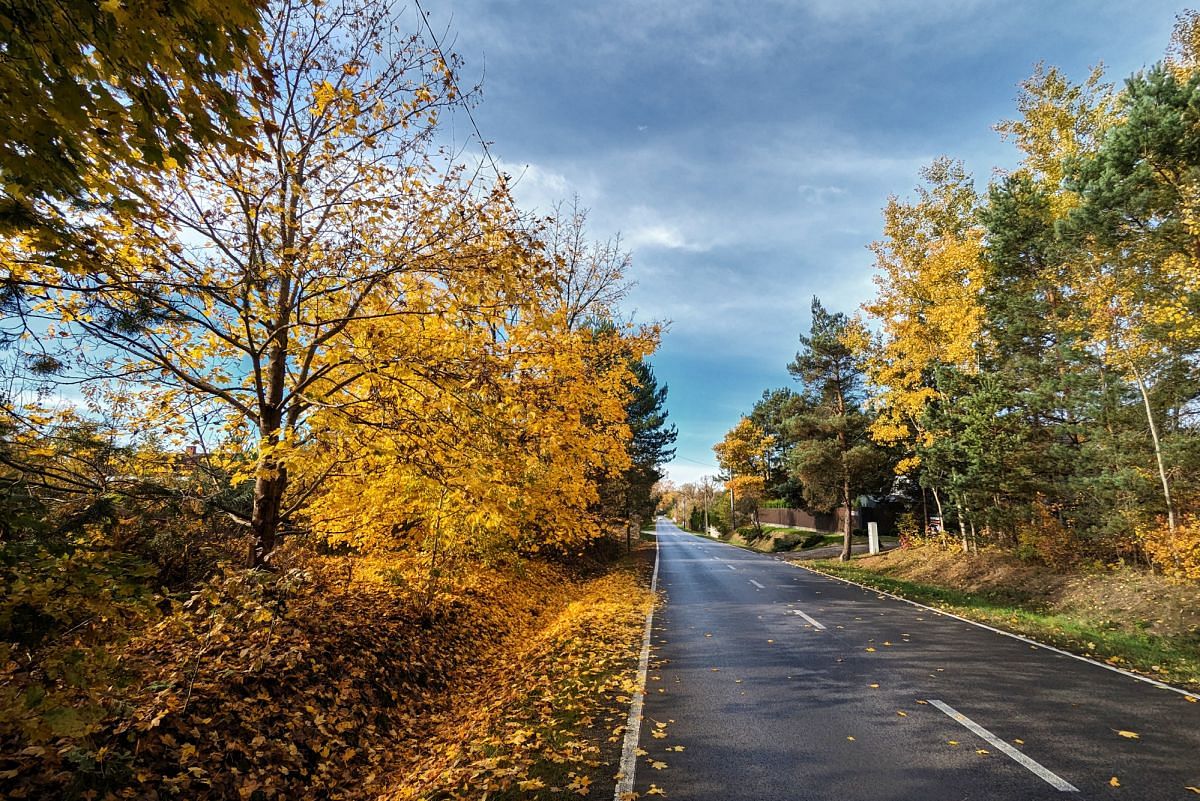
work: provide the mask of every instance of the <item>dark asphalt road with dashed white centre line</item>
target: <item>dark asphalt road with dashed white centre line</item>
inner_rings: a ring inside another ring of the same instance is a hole
[[[658,532],[643,800],[1200,799],[1200,703],[666,520]]]

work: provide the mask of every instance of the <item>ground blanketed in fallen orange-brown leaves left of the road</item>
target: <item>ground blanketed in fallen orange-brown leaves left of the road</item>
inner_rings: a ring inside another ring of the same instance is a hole
[[[14,799],[587,796],[616,772],[604,746],[619,734],[644,583],[632,561],[588,578],[520,562],[426,604],[403,565],[238,572],[121,649],[126,676],[98,731],[6,736],[4,787]]]

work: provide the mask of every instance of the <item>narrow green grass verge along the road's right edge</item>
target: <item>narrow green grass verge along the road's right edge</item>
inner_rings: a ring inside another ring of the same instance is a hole
[[[1200,691],[1200,637],[1195,632],[1160,636],[1129,631],[1087,615],[1048,608],[1048,600],[1024,601],[994,591],[972,592],[928,582],[884,576],[853,562],[818,560],[812,570],[884,590],[968,620],[1024,634],[1072,654]]]

